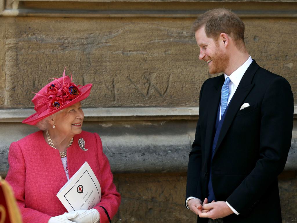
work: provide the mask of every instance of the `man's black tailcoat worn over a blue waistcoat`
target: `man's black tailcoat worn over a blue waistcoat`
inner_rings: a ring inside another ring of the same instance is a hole
[[[291,145],[293,94],[285,78],[252,64],[244,73],[225,114],[214,157],[210,152],[224,75],[200,90],[199,120],[189,154],[186,199],[208,197],[208,170],[217,201],[238,213],[224,223],[281,223],[277,176]],[[240,110],[243,103],[249,107]],[[207,222],[200,219],[198,222]]]

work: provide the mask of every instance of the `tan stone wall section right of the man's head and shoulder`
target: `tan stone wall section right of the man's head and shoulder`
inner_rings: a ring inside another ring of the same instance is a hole
[[[245,41],[258,65],[285,77],[297,99],[297,40],[295,19],[244,19]]]

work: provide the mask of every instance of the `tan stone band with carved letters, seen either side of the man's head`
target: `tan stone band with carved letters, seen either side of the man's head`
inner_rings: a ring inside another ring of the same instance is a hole
[[[199,48],[190,32],[193,19],[10,20],[2,107],[31,107],[30,92],[38,91],[48,78],[59,77],[65,66],[76,83],[94,84],[87,107],[195,106],[200,86],[211,77],[198,61]],[[287,78],[296,100],[296,19],[243,21],[252,57]]]

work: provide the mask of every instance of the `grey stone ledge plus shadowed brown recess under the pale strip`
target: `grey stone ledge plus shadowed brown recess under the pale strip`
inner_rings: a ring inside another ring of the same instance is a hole
[[[195,137],[196,120],[149,120],[85,122],[83,129],[97,132],[114,173],[186,172]],[[0,175],[8,170],[11,142],[37,131],[21,123],[0,123]],[[285,166],[297,170],[297,129]]]

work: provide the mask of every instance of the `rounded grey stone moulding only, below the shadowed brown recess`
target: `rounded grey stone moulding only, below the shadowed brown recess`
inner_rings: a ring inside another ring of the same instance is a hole
[[[187,136],[102,136],[103,151],[114,173],[187,172],[191,142]],[[135,140],[137,138],[138,140]],[[168,144],[159,143],[164,138]],[[135,141],[142,141],[137,143]],[[176,142],[182,141],[182,142]],[[174,142],[174,143],[169,143]],[[5,146],[6,147],[6,146]],[[286,171],[297,170],[297,143],[293,139]],[[0,147],[0,175],[8,171],[8,148]]]

